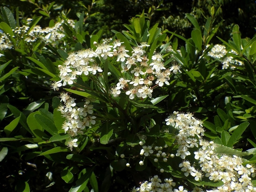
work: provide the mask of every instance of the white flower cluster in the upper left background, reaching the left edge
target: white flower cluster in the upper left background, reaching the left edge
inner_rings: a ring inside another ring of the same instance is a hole
[[[64,20],[56,23],[52,28],[47,27],[42,29],[40,26],[36,25],[33,27],[33,29],[30,30],[28,26],[31,21],[32,19],[28,18],[26,25],[12,29],[12,32],[14,34],[12,38],[16,40],[15,46],[18,46],[21,40],[24,40],[27,45],[33,45],[32,43],[36,42],[39,39],[43,40],[45,43],[54,43],[55,41],[60,40],[65,36],[65,34],[63,33],[63,28],[61,26],[61,24],[65,22]],[[75,28],[73,20],[67,20],[67,22],[72,28]],[[4,33],[0,33],[0,35],[0,50],[12,49],[14,45],[10,40],[11,35],[5,35]]]

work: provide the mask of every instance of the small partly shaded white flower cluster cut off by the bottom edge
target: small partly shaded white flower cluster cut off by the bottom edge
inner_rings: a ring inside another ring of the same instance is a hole
[[[179,187],[179,190],[173,189],[176,183],[173,182],[172,178],[166,178],[164,179],[164,183],[162,183],[158,175],[155,175],[150,181],[143,182],[139,188],[134,187],[131,192],[187,192],[187,190],[183,190],[182,186]]]

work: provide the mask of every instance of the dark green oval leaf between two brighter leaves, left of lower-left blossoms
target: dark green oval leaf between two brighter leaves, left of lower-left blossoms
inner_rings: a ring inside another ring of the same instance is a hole
[[[36,121],[43,127],[43,129],[49,132],[52,136],[55,135],[55,132],[58,132],[54,122],[51,119],[39,114],[35,114],[34,117],[36,118]]]

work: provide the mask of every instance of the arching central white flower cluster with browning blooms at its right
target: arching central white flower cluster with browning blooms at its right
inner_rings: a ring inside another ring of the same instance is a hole
[[[58,91],[60,86],[73,84],[77,76],[82,74],[90,76],[102,72],[95,58],[106,60],[110,57],[120,63],[124,76],[125,73],[129,74],[130,79],[121,77],[116,86],[109,90],[114,97],[118,97],[123,90],[130,99],[151,98],[156,86],[169,85],[171,73],[181,73],[179,65],[172,65],[171,68],[166,69],[163,55],[160,53],[155,53],[149,60],[145,55],[146,51],[143,50],[144,47],[149,46],[147,43],[133,47],[131,52],[125,49],[123,43],[120,40],[113,42],[113,45],[95,42],[94,45],[97,47],[95,51],[86,49],[70,53],[63,65],[59,66],[60,81],[53,82],[52,88]],[[153,85],[154,80],[156,80],[155,85]]]

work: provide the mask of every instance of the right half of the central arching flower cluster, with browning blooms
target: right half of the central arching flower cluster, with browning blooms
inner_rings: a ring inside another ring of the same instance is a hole
[[[110,90],[114,97],[117,97],[122,89],[126,95],[129,95],[130,99],[134,99],[136,96],[143,99],[146,97],[151,98],[155,86],[169,85],[168,80],[170,80],[171,72],[174,74],[181,73],[179,65],[173,65],[171,68],[166,69],[163,63],[163,55],[160,53],[155,53],[151,57],[152,62],[149,62],[147,55],[144,55],[146,52],[143,50],[143,47],[149,46],[147,43],[141,43],[140,46],[133,47],[131,56],[128,54],[128,50],[121,46],[120,41],[116,45],[118,46],[117,50],[115,46],[113,47],[113,54],[117,55],[116,61],[122,62],[122,73],[124,75],[129,73],[132,79],[120,78],[119,83]],[[155,79],[156,85],[152,87]]]

